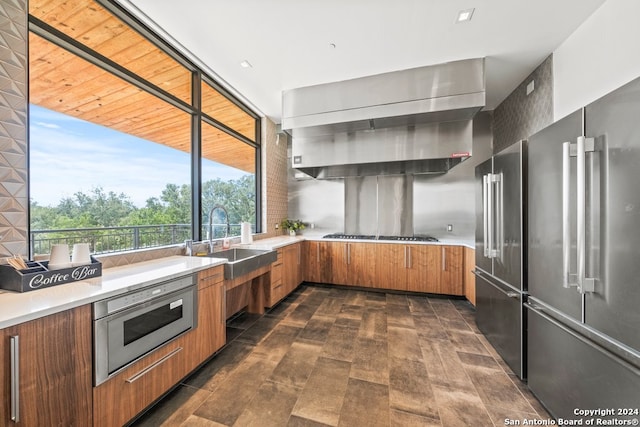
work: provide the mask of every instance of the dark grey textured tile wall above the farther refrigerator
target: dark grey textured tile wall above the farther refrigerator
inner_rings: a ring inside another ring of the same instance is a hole
[[[495,109],[493,151],[526,139],[553,122],[553,58],[549,56]],[[527,85],[535,89],[527,95]]]

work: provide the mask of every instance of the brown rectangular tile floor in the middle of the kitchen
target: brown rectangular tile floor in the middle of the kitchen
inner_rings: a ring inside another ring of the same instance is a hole
[[[501,426],[548,414],[466,301],[302,285],[136,426]]]

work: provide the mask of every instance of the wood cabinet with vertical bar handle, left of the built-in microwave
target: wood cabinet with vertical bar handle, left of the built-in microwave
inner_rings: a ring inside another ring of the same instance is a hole
[[[0,331],[1,425],[13,425],[12,359],[18,361],[16,425],[92,424],[91,328],[91,307],[85,305]]]

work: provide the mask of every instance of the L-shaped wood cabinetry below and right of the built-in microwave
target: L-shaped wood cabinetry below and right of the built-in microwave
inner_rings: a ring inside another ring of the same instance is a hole
[[[198,274],[198,326],[93,389],[94,426],[121,426],[226,342],[222,266]]]

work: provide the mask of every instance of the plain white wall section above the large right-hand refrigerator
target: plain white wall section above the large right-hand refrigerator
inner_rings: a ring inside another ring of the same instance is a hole
[[[640,76],[640,1],[607,0],[553,53],[554,121]]]

